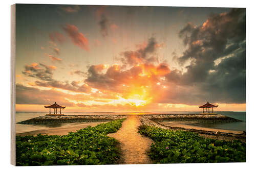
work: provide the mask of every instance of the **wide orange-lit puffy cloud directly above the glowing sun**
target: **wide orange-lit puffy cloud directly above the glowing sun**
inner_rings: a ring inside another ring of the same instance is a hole
[[[103,71],[105,69],[102,65],[90,66],[88,77],[84,82],[93,88],[119,92],[123,95],[136,88],[140,91],[141,86],[148,86],[148,89],[157,86],[160,78],[170,72],[168,66],[163,63],[159,65],[140,64],[130,69],[122,69],[114,64]]]

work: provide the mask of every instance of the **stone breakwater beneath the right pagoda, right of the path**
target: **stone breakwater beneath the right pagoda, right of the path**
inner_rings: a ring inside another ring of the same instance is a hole
[[[200,115],[200,114],[165,114],[165,115],[141,115],[141,121],[145,119],[154,120],[154,122],[164,121],[195,121],[195,122],[213,122],[213,123],[230,123],[241,122],[241,120],[224,116],[221,114],[215,115]]]

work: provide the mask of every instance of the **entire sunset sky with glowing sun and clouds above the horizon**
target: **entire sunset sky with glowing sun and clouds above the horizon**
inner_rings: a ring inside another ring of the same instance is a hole
[[[244,8],[16,5],[16,111],[245,111]]]

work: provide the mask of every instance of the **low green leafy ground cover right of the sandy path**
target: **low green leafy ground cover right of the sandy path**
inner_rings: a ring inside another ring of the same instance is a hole
[[[150,157],[155,163],[245,162],[246,145],[199,136],[195,132],[142,125],[139,133],[152,138]]]

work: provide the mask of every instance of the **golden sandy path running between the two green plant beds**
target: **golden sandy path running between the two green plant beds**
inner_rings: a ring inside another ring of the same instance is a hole
[[[150,150],[150,146],[154,141],[138,133],[140,125],[139,117],[137,115],[130,115],[116,133],[108,135],[120,142],[122,161],[119,164],[153,163],[150,157],[148,157],[147,151]]]

